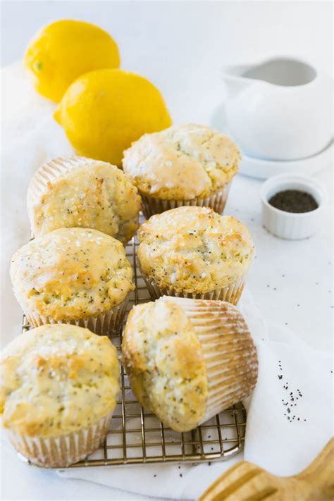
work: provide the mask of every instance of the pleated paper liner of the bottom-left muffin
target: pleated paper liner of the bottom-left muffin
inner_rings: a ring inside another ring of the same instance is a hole
[[[56,438],[30,437],[6,430],[8,440],[16,451],[32,463],[44,468],[64,468],[78,463],[97,450],[106,438],[113,413],[94,424]]]

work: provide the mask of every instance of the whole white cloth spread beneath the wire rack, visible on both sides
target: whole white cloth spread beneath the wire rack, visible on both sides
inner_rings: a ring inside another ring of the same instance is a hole
[[[20,332],[22,312],[11,292],[8,269],[13,252],[29,238],[25,207],[27,185],[42,162],[68,154],[71,148],[51,116],[54,105],[28,90],[30,87],[20,65],[7,68],[2,80],[4,88],[13,88],[15,95],[21,96],[12,115],[11,102],[15,99],[8,99],[10,93],[6,92],[8,106],[3,123],[7,136],[3,140],[1,161],[1,219],[6,238],[1,249],[1,307],[6,314],[1,316],[1,343],[6,344]],[[239,181],[236,179],[235,185]],[[279,328],[274,323],[266,326],[249,290],[242,295],[240,309],[259,354],[259,381],[249,405],[245,459],[274,474],[295,474],[314,459],[332,434],[328,405],[332,401],[331,357],[312,350],[287,328]],[[291,397],[296,400],[292,402]],[[210,466],[118,466],[68,469],[59,474],[142,495],[193,499],[237,459],[242,459],[242,454]]]

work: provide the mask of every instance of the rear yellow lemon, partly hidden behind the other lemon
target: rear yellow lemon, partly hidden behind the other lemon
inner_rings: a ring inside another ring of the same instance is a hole
[[[118,47],[109,33],[83,21],[61,20],[42,28],[25,53],[37,92],[60,101],[80,75],[99,68],[118,68]]]

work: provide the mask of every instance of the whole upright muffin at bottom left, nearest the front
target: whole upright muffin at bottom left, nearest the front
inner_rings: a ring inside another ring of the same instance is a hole
[[[96,450],[119,392],[116,348],[78,326],[32,329],[0,358],[0,414],[18,452],[63,467]]]

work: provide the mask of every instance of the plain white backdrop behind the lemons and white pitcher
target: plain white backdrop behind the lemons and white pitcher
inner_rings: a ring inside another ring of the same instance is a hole
[[[51,20],[87,20],[113,35],[123,68],[161,89],[175,122],[207,122],[223,94],[221,66],[283,54],[332,73],[332,10],[316,1],[4,1],[3,65]]]

